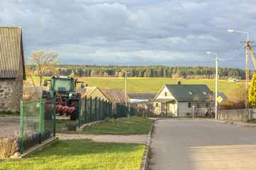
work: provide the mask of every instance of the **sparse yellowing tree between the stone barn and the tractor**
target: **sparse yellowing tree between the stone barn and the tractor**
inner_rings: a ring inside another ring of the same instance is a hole
[[[48,51],[46,50],[38,50],[38,51],[31,51],[31,55],[29,56],[29,60],[32,64],[36,65],[36,72],[38,77],[40,78],[40,86],[42,85],[43,76],[47,72],[52,72],[53,74],[58,74],[58,53],[55,51]]]

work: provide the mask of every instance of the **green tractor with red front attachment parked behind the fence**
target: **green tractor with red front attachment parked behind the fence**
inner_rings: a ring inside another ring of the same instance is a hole
[[[48,86],[48,81],[50,81],[50,89],[42,91],[42,98],[55,96],[56,113],[70,115],[70,120],[78,119],[80,93],[75,92],[76,84],[81,83],[81,88],[85,88],[85,82],[77,80],[74,77],[52,76],[43,84],[43,86]],[[53,109],[53,107],[51,108]]]

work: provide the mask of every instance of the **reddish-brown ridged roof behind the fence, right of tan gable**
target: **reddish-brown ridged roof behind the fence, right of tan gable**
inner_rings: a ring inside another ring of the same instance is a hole
[[[125,103],[124,89],[102,89],[102,93],[110,99],[112,103]],[[129,103],[129,96],[127,95],[127,102]]]

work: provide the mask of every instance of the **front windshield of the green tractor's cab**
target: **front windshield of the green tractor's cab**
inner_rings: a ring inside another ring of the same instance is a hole
[[[50,89],[55,91],[74,91],[74,81],[70,79],[55,79]]]

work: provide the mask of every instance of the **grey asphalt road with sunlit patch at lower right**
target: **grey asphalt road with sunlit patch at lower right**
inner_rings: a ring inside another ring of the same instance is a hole
[[[206,120],[157,120],[150,169],[256,169],[256,128]]]

